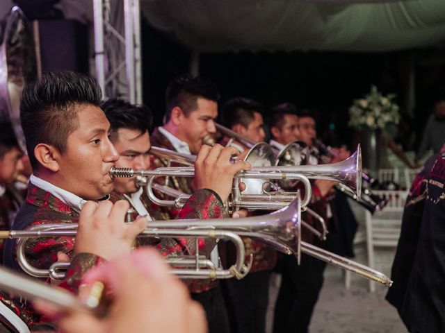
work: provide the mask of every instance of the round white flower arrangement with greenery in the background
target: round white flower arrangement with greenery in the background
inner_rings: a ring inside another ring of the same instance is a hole
[[[394,103],[395,94],[382,96],[375,85],[363,99],[355,99],[349,109],[349,126],[357,130],[384,129],[388,123],[398,123],[401,116],[398,105]]]

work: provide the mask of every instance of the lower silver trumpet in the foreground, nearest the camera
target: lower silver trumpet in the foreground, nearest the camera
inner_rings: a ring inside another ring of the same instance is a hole
[[[75,237],[77,223],[59,223],[35,225],[29,230],[1,231],[0,239],[10,238],[17,241],[17,262],[22,270],[36,278],[50,277],[60,280],[65,276],[61,273],[69,262],[55,262],[49,269],[32,266],[26,259],[25,246],[30,238],[44,237]],[[212,262],[199,254],[193,256],[168,257],[172,264],[171,272],[181,278],[193,279],[241,279],[248,273],[252,265],[252,258],[245,266],[245,250],[241,236],[259,239],[276,250],[286,254],[294,253],[300,258],[300,198],[291,205],[266,216],[253,216],[245,219],[184,219],[149,221],[148,227],[138,237],[203,237],[211,239],[225,238],[234,242],[236,246],[236,264],[227,270],[216,268]],[[193,261],[194,260],[194,261]],[[188,267],[178,269],[177,266]]]

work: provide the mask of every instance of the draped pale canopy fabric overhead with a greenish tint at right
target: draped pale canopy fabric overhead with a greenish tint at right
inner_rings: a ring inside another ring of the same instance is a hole
[[[445,42],[445,0],[142,0],[150,24],[201,52],[395,51]]]

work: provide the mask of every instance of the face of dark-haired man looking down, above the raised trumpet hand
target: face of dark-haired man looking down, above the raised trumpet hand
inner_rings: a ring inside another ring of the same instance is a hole
[[[202,139],[216,133],[215,119],[218,117],[218,104],[202,97],[197,98],[197,108],[179,119],[181,139],[188,144],[192,154],[197,154]]]

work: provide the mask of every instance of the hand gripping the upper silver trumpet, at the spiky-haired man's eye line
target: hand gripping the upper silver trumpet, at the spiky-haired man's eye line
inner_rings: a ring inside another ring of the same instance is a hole
[[[230,157],[236,155],[234,147],[223,147],[216,144],[213,147],[203,145],[197,154],[195,162],[195,189],[212,189],[225,202],[232,190],[232,180],[235,173],[252,169],[249,162],[230,162]]]

